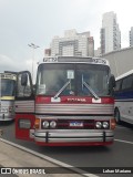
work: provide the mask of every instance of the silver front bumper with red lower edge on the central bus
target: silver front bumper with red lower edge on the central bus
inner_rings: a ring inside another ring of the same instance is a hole
[[[111,129],[31,129],[30,137],[42,146],[90,146],[112,144],[114,133]]]

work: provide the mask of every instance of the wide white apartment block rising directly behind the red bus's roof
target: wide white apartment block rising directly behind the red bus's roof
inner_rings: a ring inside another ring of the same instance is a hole
[[[51,42],[51,55],[93,56],[94,40],[90,32],[78,33],[68,30],[64,37],[54,37]]]

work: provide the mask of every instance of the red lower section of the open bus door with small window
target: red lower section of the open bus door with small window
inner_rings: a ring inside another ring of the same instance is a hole
[[[16,114],[16,138],[33,140],[30,129],[33,129],[34,119],[34,114]]]

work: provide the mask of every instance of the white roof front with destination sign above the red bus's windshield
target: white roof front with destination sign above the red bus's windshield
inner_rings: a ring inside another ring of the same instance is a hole
[[[90,56],[47,56],[43,58],[43,63],[90,63],[109,65],[109,61],[105,59]]]

